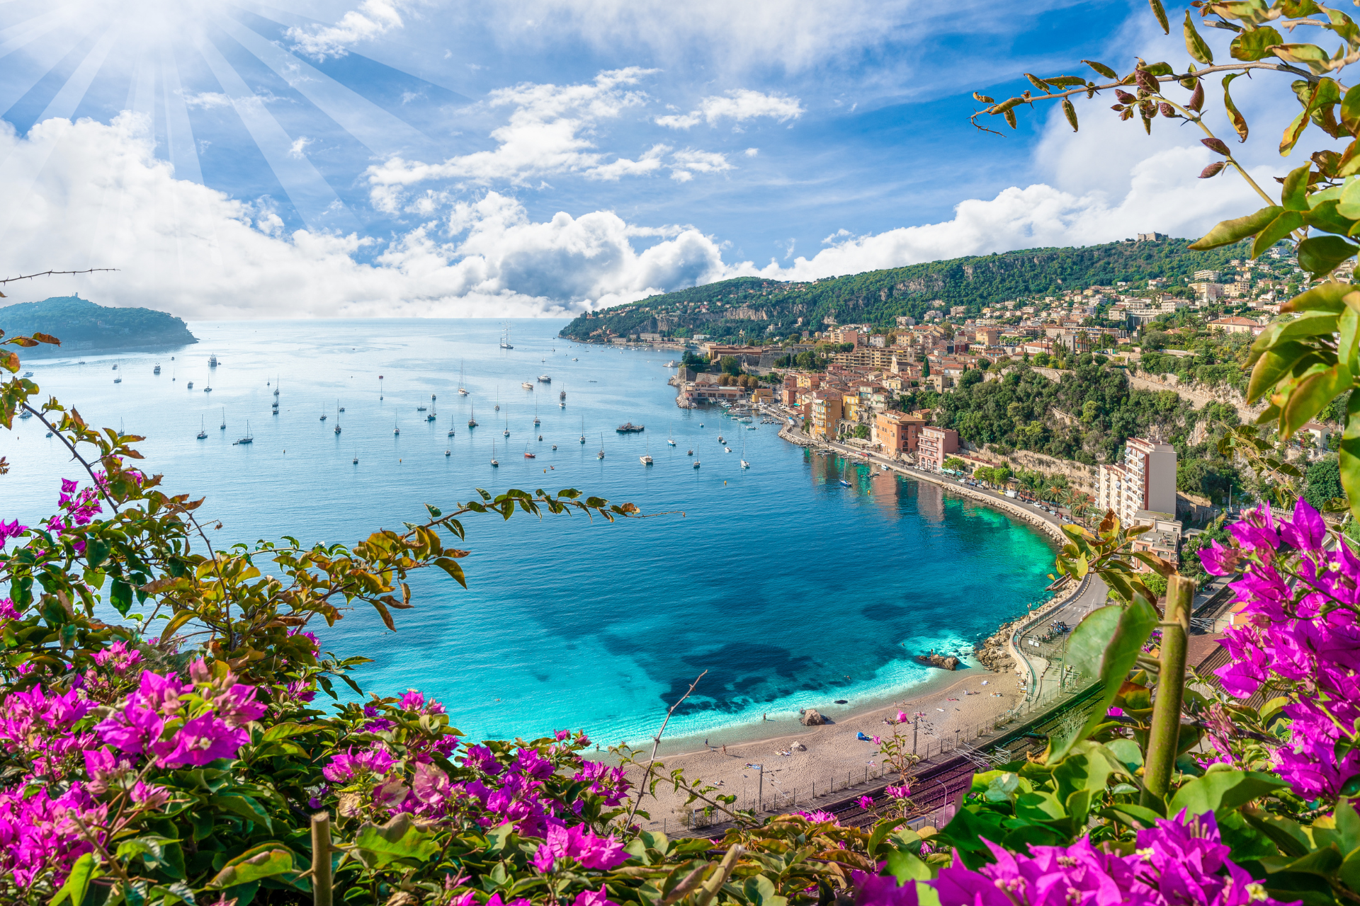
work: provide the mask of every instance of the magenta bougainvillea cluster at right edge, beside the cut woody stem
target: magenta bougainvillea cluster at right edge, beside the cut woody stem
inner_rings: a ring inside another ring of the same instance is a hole
[[[1266,508],[1228,527],[1231,546],[1201,550],[1205,570],[1232,575],[1247,622],[1228,630],[1232,660],[1219,670],[1242,698],[1263,685],[1296,690],[1284,713],[1291,743],[1274,767],[1302,795],[1336,797],[1360,773],[1360,751],[1337,758],[1342,735],[1360,719],[1360,557],[1341,542],[1325,547],[1326,524],[1302,497],[1291,519]]]

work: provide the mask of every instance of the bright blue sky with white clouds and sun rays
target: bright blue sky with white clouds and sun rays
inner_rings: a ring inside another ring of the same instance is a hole
[[[0,270],[117,268],[5,302],[566,316],[1194,236],[1259,206],[1197,178],[1217,159],[1197,132],[1145,136],[1112,98],[1078,102],[1077,133],[1044,107],[968,122],[1023,72],[1183,64],[1168,12],[1171,37],[1142,0],[0,0]],[[1269,182],[1288,86],[1234,98]]]

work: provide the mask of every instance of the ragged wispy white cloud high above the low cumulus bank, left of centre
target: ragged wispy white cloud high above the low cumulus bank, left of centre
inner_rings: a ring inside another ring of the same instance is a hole
[[[475,151],[442,163],[389,158],[369,167],[373,204],[392,212],[400,189],[428,179],[457,179],[476,185],[509,182],[526,186],[559,173],[585,173],[598,179],[617,179],[628,173],[660,167],[645,155],[639,162],[607,162],[586,136],[602,120],[619,117],[628,107],[646,103],[646,95],[628,90],[651,72],[630,67],[601,72],[593,81],[574,86],[525,83],[499,88],[488,106],[513,107],[510,121],[491,132],[492,151]]]

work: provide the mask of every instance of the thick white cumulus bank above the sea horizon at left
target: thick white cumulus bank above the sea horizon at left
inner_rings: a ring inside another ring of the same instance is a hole
[[[116,266],[42,292],[186,318],[566,314],[724,276],[719,244],[691,227],[635,227],[608,211],[534,221],[495,192],[385,246],[286,234],[268,198],[175,179],[154,156],[150,121],[131,113],[107,125],[48,120],[27,136],[3,124],[0,159],[12,269]],[[434,208],[447,211],[438,197]]]

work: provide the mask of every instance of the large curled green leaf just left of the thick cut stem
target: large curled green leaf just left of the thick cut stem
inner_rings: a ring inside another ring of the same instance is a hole
[[[1061,761],[1077,742],[1085,739],[1106,719],[1110,702],[1119,693],[1125,676],[1138,660],[1142,642],[1156,625],[1157,611],[1142,595],[1134,595],[1127,607],[1110,606],[1092,610],[1072,630],[1066,664],[1087,676],[1099,678],[1103,689],[1083,727],[1069,739],[1050,740],[1049,763]]]

